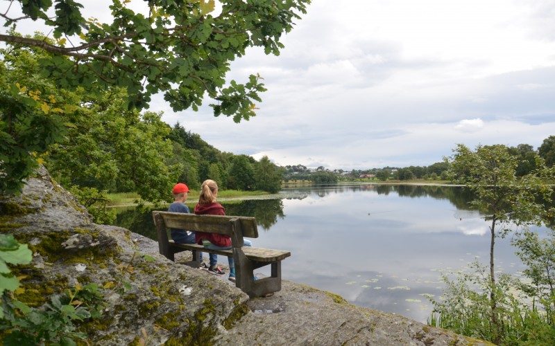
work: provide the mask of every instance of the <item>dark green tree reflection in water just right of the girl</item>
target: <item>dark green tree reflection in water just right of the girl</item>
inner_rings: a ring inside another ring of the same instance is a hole
[[[257,225],[264,230],[269,230],[278,222],[278,217],[280,219],[285,217],[281,199],[249,199],[241,203],[222,203],[222,205],[226,215],[255,217]]]

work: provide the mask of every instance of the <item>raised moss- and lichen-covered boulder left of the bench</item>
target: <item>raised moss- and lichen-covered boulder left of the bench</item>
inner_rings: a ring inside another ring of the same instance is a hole
[[[28,179],[22,194],[1,197],[0,209],[0,232],[11,233],[33,251],[30,264],[12,268],[21,277],[17,299],[40,307],[76,283],[104,287],[109,305],[102,318],[79,326],[94,345],[126,345],[144,333],[152,344],[185,336],[191,343],[211,340],[235,313],[234,302],[248,300],[225,282],[207,282],[212,275],[157,253],[146,256],[137,239],[147,240],[129,230],[94,224],[44,168]],[[183,284],[196,294],[182,295]]]

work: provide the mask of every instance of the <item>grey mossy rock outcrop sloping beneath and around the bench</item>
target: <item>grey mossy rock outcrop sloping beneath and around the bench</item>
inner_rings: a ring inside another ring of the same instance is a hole
[[[102,318],[80,325],[92,345],[485,345],[293,282],[249,300],[226,280],[170,262],[151,239],[94,224],[44,169],[21,195],[1,197],[0,215],[0,231],[34,254],[13,268],[19,300],[40,307],[77,283],[104,287]]]

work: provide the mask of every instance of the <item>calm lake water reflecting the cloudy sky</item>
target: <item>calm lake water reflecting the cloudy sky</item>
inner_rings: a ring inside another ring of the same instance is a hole
[[[488,264],[488,223],[468,208],[471,198],[454,186],[345,183],[221,203],[227,215],[257,218],[254,246],[291,251],[284,280],[426,322],[433,308],[427,296],[441,295],[442,271],[464,271],[476,258]],[[117,226],[156,239],[151,210],[121,210]],[[522,271],[514,252],[510,239],[497,239],[497,271]]]

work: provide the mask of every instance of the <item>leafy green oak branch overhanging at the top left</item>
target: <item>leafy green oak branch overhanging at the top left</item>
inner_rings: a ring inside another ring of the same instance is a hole
[[[174,110],[198,109],[208,93],[218,101],[214,115],[239,122],[254,115],[253,100],[264,91],[257,75],[246,84],[225,84],[230,62],[250,46],[278,55],[280,37],[293,28],[310,0],[148,0],[148,14],[134,12],[131,1],[114,0],[112,23],[85,19],[83,6],[72,0],[17,0],[24,17],[9,17],[6,26],[42,19],[53,28],[53,40],[0,35],[15,46],[34,46],[51,53],[40,61],[43,76],[64,89],[120,86],[130,107],[148,107],[151,95],[164,93]],[[49,11],[56,13],[49,17]],[[77,36],[77,37],[75,37]],[[74,42],[76,42],[74,44]],[[78,43],[77,43],[78,42]]]

